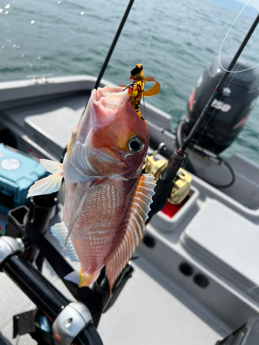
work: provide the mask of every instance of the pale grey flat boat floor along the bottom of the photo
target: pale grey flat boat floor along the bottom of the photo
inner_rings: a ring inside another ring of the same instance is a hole
[[[59,222],[60,217],[61,214],[52,219],[51,224]],[[64,254],[50,231],[46,236]],[[78,263],[70,264],[74,268],[78,266]],[[135,268],[133,277],[99,322],[98,331],[104,345],[171,345],[174,342],[179,345],[214,345],[227,334],[226,325],[195,303],[191,295],[173,284],[166,275],[155,270],[142,255],[131,264]],[[64,295],[74,300],[46,261],[43,273]],[[0,273],[0,286],[0,344],[15,345],[12,315],[35,308],[35,305],[4,273]],[[37,343],[29,335],[19,338],[19,345],[34,344]]]

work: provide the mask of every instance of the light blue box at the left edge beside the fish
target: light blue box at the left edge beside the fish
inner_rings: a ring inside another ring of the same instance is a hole
[[[37,159],[0,144],[0,212],[28,204],[30,186],[48,175]]]

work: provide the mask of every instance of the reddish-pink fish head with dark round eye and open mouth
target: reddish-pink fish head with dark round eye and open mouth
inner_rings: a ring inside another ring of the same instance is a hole
[[[86,175],[133,175],[140,172],[149,144],[148,125],[131,106],[128,90],[93,90],[84,116],[73,130],[68,159],[77,152]],[[75,164],[73,164],[75,166]]]

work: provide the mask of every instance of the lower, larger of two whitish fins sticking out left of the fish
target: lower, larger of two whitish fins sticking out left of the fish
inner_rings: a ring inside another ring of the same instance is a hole
[[[27,197],[57,192],[61,188],[62,179],[63,170],[56,172],[54,175],[47,176],[44,179],[40,179],[30,187]]]

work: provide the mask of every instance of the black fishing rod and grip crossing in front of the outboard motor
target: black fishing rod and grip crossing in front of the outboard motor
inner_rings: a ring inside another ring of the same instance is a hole
[[[229,76],[229,73],[231,72],[231,70],[233,69],[233,66],[235,66],[236,62],[238,61],[238,58],[240,57],[242,51],[244,50],[244,47],[247,45],[251,35],[256,29],[258,22],[259,22],[259,14],[256,17],[255,21],[253,22],[249,31],[247,32],[246,37],[244,37],[244,40],[242,41],[240,47],[238,48],[236,55],[233,57],[231,63],[229,64],[229,68],[227,68],[226,72],[222,76],[222,79],[220,79],[220,82],[215,87],[215,90],[213,91],[209,101],[207,102],[206,106],[202,110],[193,128],[189,132],[189,135],[187,136],[186,140],[184,141],[182,146],[179,148],[179,150],[175,150],[175,152],[173,152],[173,154],[169,158],[168,164],[166,168],[164,169],[164,171],[162,172],[162,174],[160,175],[160,179],[158,179],[157,185],[155,186],[155,195],[153,196],[153,203],[151,204],[151,210],[148,213],[148,219],[146,221],[146,224],[148,224],[148,222],[151,220],[153,215],[155,215],[157,212],[162,210],[164,206],[166,206],[166,201],[169,198],[169,194],[173,186],[173,179],[175,179],[176,175],[178,174],[178,170],[181,168],[182,163],[184,159],[186,158],[185,156],[186,148],[191,143],[191,140],[193,139],[195,132],[197,132],[201,121],[207,115],[207,112],[209,108],[211,107],[211,104],[213,103],[215,97],[218,95],[218,92],[222,90],[222,86],[224,85],[224,82]]]

